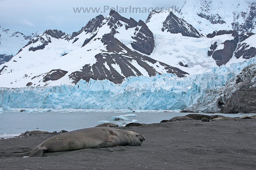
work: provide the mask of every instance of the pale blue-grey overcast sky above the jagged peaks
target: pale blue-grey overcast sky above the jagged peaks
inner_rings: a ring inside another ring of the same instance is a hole
[[[20,31],[25,35],[46,29],[58,29],[71,34],[79,31],[91,18],[100,14],[106,17],[109,14],[107,6],[115,9],[118,6],[118,10],[132,6],[147,8],[150,11],[152,8],[166,9],[172,6],[180,9],[184,2],[185,0],[0,0],[0,26]],[[82,10],[75,13],[73,9],[86,7],[100,9],[98,13],[84,13]],[[145,21],[149,13],[130,13],[127,10],[120,14],[136,21]]]

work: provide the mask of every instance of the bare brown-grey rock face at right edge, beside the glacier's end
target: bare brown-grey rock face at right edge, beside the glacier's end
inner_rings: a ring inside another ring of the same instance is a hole
[[[256,113],[256,87],[238,90],[227,100],[223,113]]]

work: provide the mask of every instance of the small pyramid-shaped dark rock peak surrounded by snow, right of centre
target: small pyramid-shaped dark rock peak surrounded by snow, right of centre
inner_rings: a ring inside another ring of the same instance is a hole
[[[172,12],[168,15],[166,20],[163,23],[162,31],[170,33],[181,33],[183,36],[187,37],[203,37],[192,25],[187,23],[182,18],[178,18]]]

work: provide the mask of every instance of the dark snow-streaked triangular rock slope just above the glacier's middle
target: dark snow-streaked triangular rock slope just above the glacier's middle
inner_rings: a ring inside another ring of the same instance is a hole
[[[114,38],[111,33],[104,35],[100,41],[106,45],[107,51],[102,51],[102,53],[95,56],[97,60],[95,64],[86,64],[80,71],[71,73],[69,77],[74,80],[73,83],[77,83],[80,79],[89,82],[90,78],[94,80],[108,79],[114,83],[122,83],[124,78],[142,75],[142,73],[131,64],[135,61],[148,72],[149,76],[155,76],[156,73],[158,73],[148,64],[148,62],[155,64],[157,61],[132,51],[118,39]],[[123,50],[126,50],[127,53],[122,52]],[[188,74],[167,64],[161,62],[159,62],[159,64],[159,66],[164,66],[167,72],[176,74],[179,77]],[[115,66],[118,66],[121,72],[116,71]]]

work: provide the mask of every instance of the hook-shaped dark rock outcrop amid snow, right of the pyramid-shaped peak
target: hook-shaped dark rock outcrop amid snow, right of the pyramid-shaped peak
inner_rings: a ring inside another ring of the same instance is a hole
[[[208,51],[208,56],[212,57],[214,60],[216,60],[216,64],[218,66],[221,66],[222,64],[228,63],[230,59],[233,57],[233,53],[236,50],[236,46],[239,41],[238,33],[236,31],[218,31],[213,32],[212,34],[208,34],[207,37],[213,38],[218,35],[224,35],[224,34],[232,34],[234,39],[232,40],[226,40],[222,45],[224,46],[223,49],[216,50],[218,45],[217,42],[211,45],[210,50]]]

